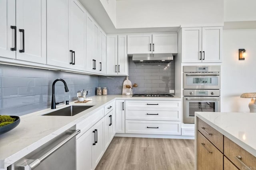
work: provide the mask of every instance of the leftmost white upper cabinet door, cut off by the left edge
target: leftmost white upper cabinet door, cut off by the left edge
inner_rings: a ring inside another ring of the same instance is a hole
[[[15,19],[15,0],[0,0],[0,57],[16,57]]]

